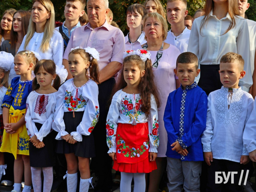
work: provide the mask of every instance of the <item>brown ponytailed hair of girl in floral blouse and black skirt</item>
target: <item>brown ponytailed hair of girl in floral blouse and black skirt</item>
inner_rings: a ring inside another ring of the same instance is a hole
[[[85,63],[87,61],[90,61],[90,66],[88,67],[89,72],[90,72],[90,79],[92,79],[96,83],[99,83],[99,65],[98,65],[98,61],[93,57],[92,57],[92,59],[90,59],[90,54],[85,52],[84,49],[74,49],[70,53],[79,54],[84,59]],[[70,55],[70,53],[69,53],[69,55]],[[87,70],[85,72],[85,75],[87,73]]]

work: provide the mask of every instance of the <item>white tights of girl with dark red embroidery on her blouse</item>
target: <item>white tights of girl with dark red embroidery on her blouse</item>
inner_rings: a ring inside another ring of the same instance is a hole
[[[31,167],[34,192],[42,191],[42,180],[41,180],[42,170],[44,174],[44,192],[50,192],[52,189],[52,181],[53,181],[52,167]]]

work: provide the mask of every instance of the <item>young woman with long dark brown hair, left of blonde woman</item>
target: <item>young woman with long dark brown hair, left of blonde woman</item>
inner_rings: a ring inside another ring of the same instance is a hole
[[[28,31],[30,15],[30,12],[23,10],[15,12],[12,19],[12,38],[3,42],[1,51],[12,53],[12,55],[15,56]]]

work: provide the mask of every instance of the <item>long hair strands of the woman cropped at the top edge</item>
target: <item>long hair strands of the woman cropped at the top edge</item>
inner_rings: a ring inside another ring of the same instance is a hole
[[[230,26],[228,27],[227,31],[224,34],[226,34],[230,29],[233,29],[234,27],[236,27],[235,17],[239,15],[237,0],[227,0],[227,3],[228,3],[227,12],[230,15],[231,21],[230,21]],[[209,16],[210,16],[210,12],[213,10],[213,8],[214,8],[213,0],[207,0],[204,6],[204,11],[203,11],[204,18],[202,19],[201,25],[200,25],[200,34],[201,34],[202,28],[207,23],[207,20],[209,19]]]

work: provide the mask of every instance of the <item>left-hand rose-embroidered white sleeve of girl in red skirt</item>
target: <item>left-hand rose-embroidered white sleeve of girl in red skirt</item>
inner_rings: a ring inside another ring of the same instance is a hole
[[[121,100],[113,96],[106,121],[108,153],[116,153],[116,128]]]

